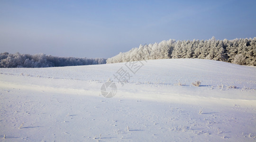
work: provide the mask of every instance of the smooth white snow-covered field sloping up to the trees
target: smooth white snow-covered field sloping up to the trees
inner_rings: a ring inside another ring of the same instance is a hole
[[[137,63],[135,74],[125,63],[0,69],[0,141],[256,141],[256,67]],[[104,98],[102,84],[120,69],[130,79]]]

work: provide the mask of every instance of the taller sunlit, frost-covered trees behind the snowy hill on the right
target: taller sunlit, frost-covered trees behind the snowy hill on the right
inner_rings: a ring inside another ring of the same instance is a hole
[[[174,40],[140,45],[107,59],[107,63],[138,60],[197,58],[256,66],[256,37],[233,40]]]

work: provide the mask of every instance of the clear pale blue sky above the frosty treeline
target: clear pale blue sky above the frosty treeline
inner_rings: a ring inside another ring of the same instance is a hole
[[[0,53],[110,58],[163,40],[253,38],[256,0],[0,0]]]

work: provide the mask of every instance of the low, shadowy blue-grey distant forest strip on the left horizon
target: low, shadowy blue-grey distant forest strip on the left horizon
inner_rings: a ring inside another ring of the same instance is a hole
[[[56,57],[43,53],[35,55],[0,53],[0,68],[44,68],[105,64],[106,60],[104,58]]]

